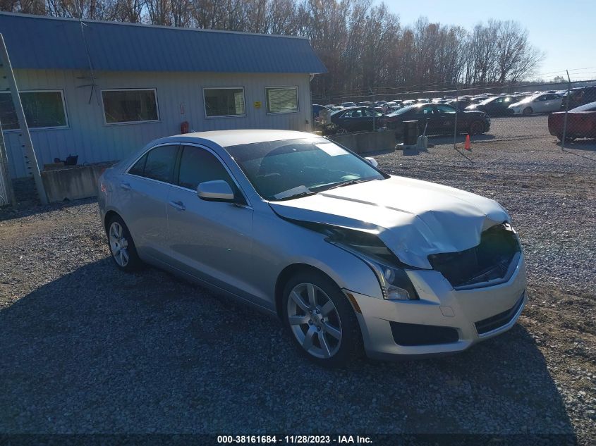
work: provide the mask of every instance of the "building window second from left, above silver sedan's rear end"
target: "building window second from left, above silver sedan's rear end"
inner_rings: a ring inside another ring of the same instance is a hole
[[[155,89],[103,89],[106,124],[152,123],[159,120]]]

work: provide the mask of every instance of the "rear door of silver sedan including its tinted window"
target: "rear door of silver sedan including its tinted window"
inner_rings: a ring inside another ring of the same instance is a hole
[[[116,185],[119,211],[142,258],[166,261],[168,257],[166,203],[178,149],[178,144],[153,147]]]

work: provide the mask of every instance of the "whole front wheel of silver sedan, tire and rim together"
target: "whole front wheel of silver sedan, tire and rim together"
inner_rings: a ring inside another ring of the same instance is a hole
[[[322,366],[345,366],[363,351],[358,319],[326,275],[307,271],[284,287],[284,325],[301,354]]]

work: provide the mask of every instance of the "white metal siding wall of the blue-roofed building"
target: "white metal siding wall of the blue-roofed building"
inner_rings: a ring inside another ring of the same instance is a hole
[[[146,73],[99,72],[89,103],[88,73],[62,70],[17,70],[20,90],[61,89],[66,101],[69,128],[31,130],[39,167],[78,155],[78,163],[115,161],[151,140],[180,133],[188,120],[190,130],[273,128],[309,131],[312,123],[310,79],[305,74],[245,73]],[[87,86],[86,86],[87,85]],[[265,87],[298,86],[298,113],[268,115]],[[233,118],[205,118],[203,87],[244,87],[246,115]],[[105,125],[100,89],[155,88],[159,122]],[[260,101],[262,106],[253,105]],[[180,105],[184,105],[184,114]],[[6,130],[4,138],[12,178],[28,175],[19,130]]]

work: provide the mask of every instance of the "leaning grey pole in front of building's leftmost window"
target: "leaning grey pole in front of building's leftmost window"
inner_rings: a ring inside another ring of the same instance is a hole
[[[8,50],[6,49],[6,44],[4,43],[4,37],[1,34],[0,59],[2,59],[0,68],[4,68],[4,71],[6,72],[6,80],[8,80],[8,85],[11,90],[11,96],[13,97],[13,104],[15,106],[15,113],[18,118],[20,133],[25,142],[25,144],[23,144],[23,147],[25,147],[25,151],[27,151],[26,158],[28,160],[27,162],[29,164],[29,168],[33,173],[33,179],[35,180],[35,188],[37,189],[37,195],[39,195],[39,200],[42,202],[42,204],[47,204],[46,190],[44,188],[44,183],[42,182],[42,175],[41,173],[39,173],[37,157],[35,156],[33,142],[31,141],[31,134],[29,133],[27,120],[25,119],[25,111],[23,111],[23,104],[21,104],[20,102],[18,87],[16,85],[15,80],[15,74],[13,72],[13,67],[11,66],[11,59],[8,57]]]

